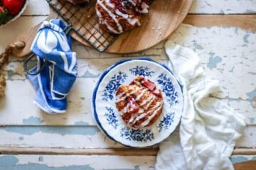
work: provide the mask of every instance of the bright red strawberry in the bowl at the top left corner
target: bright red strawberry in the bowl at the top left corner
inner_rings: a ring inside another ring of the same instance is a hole
[[[15,16],[21,11],[22,6],[26,0],[2,0],[2,4],[11,13],[11,16]]]

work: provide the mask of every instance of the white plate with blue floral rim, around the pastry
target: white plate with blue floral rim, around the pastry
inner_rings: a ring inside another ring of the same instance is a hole
[[[161,90],[164,106],[156,122],[134,129],[122,120],[115,106],[117,88],[128,85],[135,77],[146,77]],[[121,60],[103,72],[92,94],[92,113],[100,130],[107,137],[127,147],[149,147],[169,137],[181,120],[183,94],[168,67],[149,58]]]

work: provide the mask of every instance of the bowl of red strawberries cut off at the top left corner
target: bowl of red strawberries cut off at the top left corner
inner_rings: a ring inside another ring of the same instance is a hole
[[[21,16],[27,4],[28,0],[0,0],[0,26]]]

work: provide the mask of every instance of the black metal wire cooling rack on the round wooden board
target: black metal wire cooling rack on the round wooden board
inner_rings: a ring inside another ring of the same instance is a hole
[[[85,6],[75,6],[63,0],[46,1],[68,23],[68,30],[74,30],[96,50],[104,52],[117,39],[118,35],[100,29],[95,12],[95,0],[91,0]]]

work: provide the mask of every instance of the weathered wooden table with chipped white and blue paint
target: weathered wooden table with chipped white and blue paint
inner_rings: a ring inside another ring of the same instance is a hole
[[[0,27],[0,52],[17,35],[47,18],[46,1],[31,0],[23,15]],[[188,16],[169,37],[196,51],[208,76],[218,79],[224,102],[246,117],[245,134],[230,158],[235,169],[256,169],[256,1],[194,0]],[[118,60],[148,56],[167,63],[164,42],[127,55],[100,53],[73,42],[78,79],[68,112],[48,115],[33,104],[34,90],[23,59],[3,68],[6,96],[0,98],[0,169],[154,169],[157,147],[129,149],[95,125],[90,97],[97,77]]]

